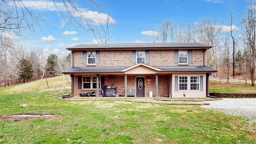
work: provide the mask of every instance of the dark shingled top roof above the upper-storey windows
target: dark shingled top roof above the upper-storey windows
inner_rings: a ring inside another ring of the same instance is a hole
[[[66,48],[67,50],[76,49],[134,49],[134,48],[212,48],[212,46],[191,43],[191,42],[172,42],[172,43],[126,43],[126,44],[79,44]]]

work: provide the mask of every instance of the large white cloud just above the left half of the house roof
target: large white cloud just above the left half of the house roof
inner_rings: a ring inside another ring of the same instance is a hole
[[[111,18],[108,14],[98,13],[93,11],[82,11],[74,12],[74,16],[80,17],[82,15],[84,18],[91,21],[91,24],[116,24],[116,21]]]

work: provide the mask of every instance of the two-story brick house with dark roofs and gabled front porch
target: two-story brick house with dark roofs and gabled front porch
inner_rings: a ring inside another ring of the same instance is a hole
[[[71,95],[114,84],[117,94],[135,97],[171,95],[174,98],[206,97],[209,75],[206,50],[198,43],[79,44],[67,48],[72,67]]]

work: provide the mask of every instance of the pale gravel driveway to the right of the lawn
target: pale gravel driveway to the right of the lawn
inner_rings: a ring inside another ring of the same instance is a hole
[[[201,107],[214,108],[235,116],[245,116],[252,119],[252,122],[256,122],[256,98],[222,98],[207,102],[210,105]]]

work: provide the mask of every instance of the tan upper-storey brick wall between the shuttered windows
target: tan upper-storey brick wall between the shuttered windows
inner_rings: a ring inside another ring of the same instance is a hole
[[[191,66],[203,66],[203,50],[193,50]],[[82,63],[83,52],[74,51],[74,67],[86,66]],[[150,66],[175,66],[174,50],[150,50]],[[131,50],[100,51],[100,64],[96,66],[133,66]]]

